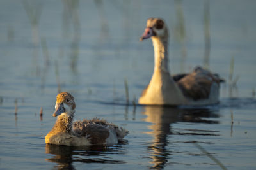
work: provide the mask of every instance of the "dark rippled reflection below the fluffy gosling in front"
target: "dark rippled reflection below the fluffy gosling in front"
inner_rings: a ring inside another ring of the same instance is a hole
[[[98,163],[98,164],[125,164],[122,160],[113,160],[108,157],[109,154],[124,154],[124,145],[116,146],[84,146],[84,147],[70,147],[64,145],[45,144],[45,153],[53,156],[47,162],[56,162],[58,165],[54,166],[57,169],[75,169],[73,162],[83,163]]]

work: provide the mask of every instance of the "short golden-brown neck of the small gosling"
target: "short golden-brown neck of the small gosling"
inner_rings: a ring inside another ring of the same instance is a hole
[[[75,111],[71,111],[71,113],[61,113],[58,116],[52,131],[54,132],[65,132],[67,134],[72,134],[72,124],[74,121],[74,113]]]

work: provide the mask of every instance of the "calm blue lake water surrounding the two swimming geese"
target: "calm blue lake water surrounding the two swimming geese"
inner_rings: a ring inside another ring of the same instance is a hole
[[[255,1],[211,1],[209,15],[204,1],[72,2],[0,2],[1,169],[255,169]],[[152,76],[152,42],[138,41],[149,17],[169,25],[173,74],[204,64],[209,23],[209,68],[227,80],[219,105],[126,106],[125,80],[132,103]],[[58,90],[77,120],[128,129],[124,143],[45,145]]]

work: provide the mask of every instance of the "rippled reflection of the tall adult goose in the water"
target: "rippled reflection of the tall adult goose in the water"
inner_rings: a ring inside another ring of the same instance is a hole
[[[166,166],[171,151],[166,149],[168,146],[168,135],[211,135],[216,136],[218,131],[209,131],[202,129],[173,129],[171,124],[175,122],[193,122],[205,124],[218,124],[218,121],[207,120],[209,117],[219,117],[216,113],[211,113],[207,109],[178,109],[161,106],[145,106],[143,114],[147,115],[145,122],[152,125],[148,132],[153,136],[152,145],[148,150],[152,152],[152,168],[159,169]]]

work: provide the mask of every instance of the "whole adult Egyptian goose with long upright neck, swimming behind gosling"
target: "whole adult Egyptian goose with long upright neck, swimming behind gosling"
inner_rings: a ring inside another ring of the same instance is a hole
[[[140,40],[152,38],[155,67],[140,104],[203,105],[216,104],[221,78],[202,67],[192,73],[170,76],[168,71],[168,29],[160,18],[149,18]]]

